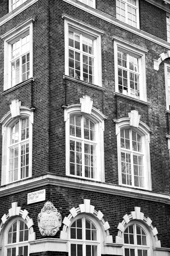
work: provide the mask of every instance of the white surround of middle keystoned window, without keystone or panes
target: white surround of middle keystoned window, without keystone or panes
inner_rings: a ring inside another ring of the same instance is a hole
[[[92,108],[91,114],[81,113],[80,107],[65,109],[65,150],[66,150],[66,175],[86,180],[105,181],[104,174],[104,118],[97,115],[99,111]],[[96,126],[96,178],[70,175],[70,115],[83,115],[95,123]]]

